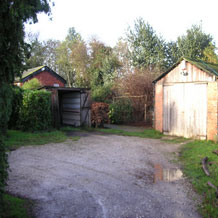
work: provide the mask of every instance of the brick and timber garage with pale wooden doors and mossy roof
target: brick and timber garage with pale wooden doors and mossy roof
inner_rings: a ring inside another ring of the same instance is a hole
[[[168,135],[215,140],[218,65],[182,58],[153,81],[154,127]]]

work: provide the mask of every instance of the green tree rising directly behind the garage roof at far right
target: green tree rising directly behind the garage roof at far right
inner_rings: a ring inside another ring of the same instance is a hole
[[[186,35],[178,37],[177,44],[180,56],[218,63],[213,38],[201,26],[193,25]]]

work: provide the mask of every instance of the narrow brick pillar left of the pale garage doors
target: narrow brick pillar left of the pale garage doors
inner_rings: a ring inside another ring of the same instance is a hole
[[[163,131],[163,85],[158,81],[155,85],[154,128]]]

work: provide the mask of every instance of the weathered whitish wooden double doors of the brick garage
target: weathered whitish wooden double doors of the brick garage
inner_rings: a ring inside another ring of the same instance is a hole
[[[164,86],[163,130],[170,135],[206,139],[207,84]]]

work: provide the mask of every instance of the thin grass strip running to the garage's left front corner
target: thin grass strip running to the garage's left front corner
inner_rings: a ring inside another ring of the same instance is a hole
[[[154,129],[146,129],[142,132],[129,132],[119,129],[96,129],[96,131],[122,135],[122,136],[136,136],[140,138],[152,138],[152,139],[160,139],[163,136],[161,132],[156,131]]]

